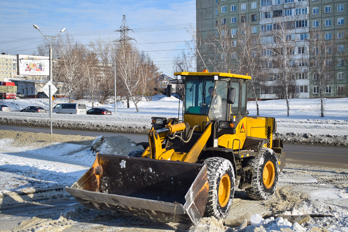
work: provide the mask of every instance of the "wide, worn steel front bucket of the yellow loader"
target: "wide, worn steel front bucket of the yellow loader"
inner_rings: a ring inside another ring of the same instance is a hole
[[[92,167],[65,189],[86,208],[197,225],[209,185],[206,165],[97,154]]]

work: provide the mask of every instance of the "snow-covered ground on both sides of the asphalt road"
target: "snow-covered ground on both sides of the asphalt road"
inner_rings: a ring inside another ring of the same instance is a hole
[[[140,112],[135,112],[134,107],[127,109],[125,102],[118,102],[116,114],[113,104],[99,105],[111,110],[111,117],[55,114],[53,120],[60,123],[92,121],[101,127],[116,122],[149,127],[153,116],[177,117],[179,101],[176,98],[158,96],[155,100],[141,102]],[[67,102],[66,99],[55,100],[55,103],[63,102]],[[85,103],[88,109],[92,106],[86,100],[76,102]],[[30,105],[47,109],[48,99],[19,99],[15,103],[5,100],[4,103],[14,111],[0,112],[1,121],[7,118],[47,120],[48,114],[16,111]],[[291,99],[290,117],[286,117],[285,101],[263,101],[259,102],[260,116],[275,117],[277,131],[298,140],[317,138],[331,144],[347,141],[348,98],[326,99],[324,118],[319,117],[318,103],[318,99]],[[248,102],[248,110],[250,115],[256,114],[254,102]],[[66,197],[64,186],[73,184],[95,159],[95,153],[90,151],[94,139],[0,130],[0,231],[348,231],[348,170],[300,165],[286,166],[279,177],[278,191],[269,201],[252,201],[244,191],[237,191],[224,224],[222,220],[203,218],[192,227],[139,221],[134,226],[122,221],[124,218],[86,211],[77,203],[54,213],[42,212],[40,220],[29,212],[21,214],[20,210],[2,213],[2,209],[10,208],[11,204],[18,207],[18,202],[41,198],[55,201],[56,197]],[[134,142],[122,136],[108,139],[99,148],[101,153],[125,154],[137,148]],[[52,221],[54,218],[56,222]]]

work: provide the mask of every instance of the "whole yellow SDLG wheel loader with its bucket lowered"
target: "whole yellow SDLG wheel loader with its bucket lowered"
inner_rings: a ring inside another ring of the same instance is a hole
[[[270,199],[285,166],[274,118],[248,116],[248,75],[179,72],[182,120],[152,118],[149,142],[131,156],[97,154],[66,191],[87,208],[164,222],[225,218],[235,186]],[[176,83],[176,85],[179,85]],[[168,85],[167,96],[171,96]],[[138,156],[138,157],[136,157]]]

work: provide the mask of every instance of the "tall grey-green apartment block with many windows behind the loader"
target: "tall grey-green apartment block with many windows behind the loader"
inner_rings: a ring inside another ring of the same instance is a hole
[[[261,69],[269,73],[259,86],[258,96],[272,99],[277,98],[275,85],[277,76],[282,75],[272,63],[272,49],[277,43],[274,32],[279,27],[287,28],[284,37],[293,42],[293,48],[288,50],[293,56],[291,65],[297,67],[292,75],[296,97],[319,97],[319,75],[325,76],[324,97],[344,97],[342,92],[348,85],[347,7],[345,0],[196,0],[197,38],[209,41],[209,37],[222,35],[228,40],[224,42],[226,45],[243,46],[237,44],[238,36],[245,34],[243,26],[247,24],[251,32],[248,36],[263,46],[258,54],[265,58]],[[318,41],[322,47],[316,45]],[[205,54],[208,69],[214,69],[212,60],[233,63],[238,56],[238,52],[221,54],[209,46],[202,46],[200,50]],[[316,67],[320,62],[325,64],[325,72],[319,74]],[[197,69],[200,69],[198,64]]]

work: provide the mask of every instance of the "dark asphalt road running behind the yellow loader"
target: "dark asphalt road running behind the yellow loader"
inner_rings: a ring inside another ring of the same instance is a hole
[[[37,127],[22,127],[11,125],[0,125],[1,130],[18,130],[29,131],[34,133],[50,133],[49,128]],[[100,136],[105,137],[123,135],[135,142],[147,142],[147,135],[136,134],[119,134],[97,131],[82,131],[82,130],[65,130],[53,129],[54,134],[63,135],[85,135],[85,136]],[[284,144],[284,152],[286,153],[286,162],[299,165],[312,165],[332,168],[348,168],[348,148],[347,147],[332,147],[332,146],[312,146],[298,144]]]

